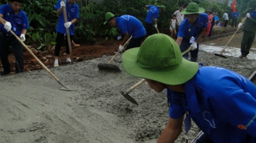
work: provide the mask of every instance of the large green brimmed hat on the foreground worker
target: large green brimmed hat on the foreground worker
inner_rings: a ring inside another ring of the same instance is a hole
[[[165,34],[151,35],[140,48],[126,50],[122,61],[128,74],[167,85],[185,83],[199,68],[197,62],[184,59],[178,44]]]

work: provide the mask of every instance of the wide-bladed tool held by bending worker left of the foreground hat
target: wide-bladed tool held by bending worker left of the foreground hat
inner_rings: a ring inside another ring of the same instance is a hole
[[[132,36],[125,42],[124,46],[126,46],[126,44],[131,40]],[[107,70],[114,70],[117,72],[121,72],[121,70],[119,69],[118,66],[114,65],[114,64],[110,64],[115,57],[120,53],[120,50],[117,51],[117,53],[112,57],[112,59],[108,62],[108,63],[99,63],[97,66],[99,69],[107,69]]]

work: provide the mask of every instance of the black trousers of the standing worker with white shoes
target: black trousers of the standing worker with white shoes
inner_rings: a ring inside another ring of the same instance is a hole
[[[73,37],[74,37],[74,35],[70,35],[70,42],[73,40]],[[68,38],[65,36],[65,39],[66,39],[65,40],[66,41],[66,54],[70,54]],[[57,32],[54,56],[59,56],[59,51],[60,51],[60,48],[62,47],[63,41],[64,41],[64,34]]]

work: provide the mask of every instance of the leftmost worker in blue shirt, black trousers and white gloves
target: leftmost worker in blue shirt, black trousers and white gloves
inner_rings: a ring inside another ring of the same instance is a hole
[[[12,30],[21,40],[26,40],[27,29],[29,28],[28,17],[21,10],[22,3],[27,0],[11,0],[10,4],[2,4],[0,8],[0,18],[5,24],[0,25],[0,58],[3,65],[1,76],[11,73],[8,60],[9,47],[13,48],[15,56],[15,73],[23,72],[23,46],[10,32]]]

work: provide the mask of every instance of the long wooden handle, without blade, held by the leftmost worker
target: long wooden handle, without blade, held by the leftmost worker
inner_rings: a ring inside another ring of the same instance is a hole
[[[2,24],[4,24],[4,22],[2,21],[1,18],[0,18],[0,21],[1,21]],[[44,63],[42,63],[42,62],[38,59],[38,57],[36,57],[36,56],[34,55],[34,53],[26,46],[26,44],[20,39],[20,37],[18,37],[12,30],[10,30],[10,32],[11,32],[11,34],[13,34],[13,36],[16,37],[16,39],[17,39],[18,41],[20,41],[20,43],[22,44],[22,46],[25,47],[25,48],[28,50],[28,52],[35,58],[35,60],[38,61],[38,63],[39,63],[44,69],[46,69],[47,72],[50,73],[50,75],[51,75],[55,80],[57,80],[58,82],[60,82],[59,79],[44,65]]]

